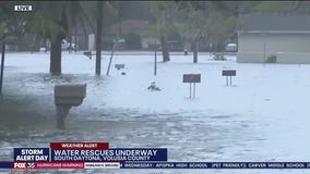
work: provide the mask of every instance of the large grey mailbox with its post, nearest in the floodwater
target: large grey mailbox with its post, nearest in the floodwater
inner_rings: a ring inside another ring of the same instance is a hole
[[[57,127],[64,128],[64,119],[71,107],[79,107],[86,97],[86,84],[56,85],[53,97],[57,111]]]

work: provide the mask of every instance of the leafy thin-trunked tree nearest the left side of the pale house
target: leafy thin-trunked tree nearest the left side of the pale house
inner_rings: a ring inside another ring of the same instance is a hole
[[[236,7],[223,1],[180,1],[179,32],[193,48],[193,63],[198,62],[198,44],[204,39],[215,45],[236,33],[238,15]]]

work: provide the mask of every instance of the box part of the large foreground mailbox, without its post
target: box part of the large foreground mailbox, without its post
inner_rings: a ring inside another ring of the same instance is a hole
[[[78,107],[86,97],[86,84],[63,84],[55,86],[55,104]]]

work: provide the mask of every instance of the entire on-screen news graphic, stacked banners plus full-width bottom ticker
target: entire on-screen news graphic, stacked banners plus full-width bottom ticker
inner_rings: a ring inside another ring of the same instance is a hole
[[[109,148],[108,142],[50,142],[49,148],[14,148],[0,169],[310,169],[310,162],[168,162],[166,148]]]

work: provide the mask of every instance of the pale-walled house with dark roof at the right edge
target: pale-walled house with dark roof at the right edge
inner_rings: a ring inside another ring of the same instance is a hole
[[[240,15],[239,63],[310,63],[310,15]]]

